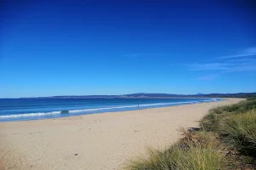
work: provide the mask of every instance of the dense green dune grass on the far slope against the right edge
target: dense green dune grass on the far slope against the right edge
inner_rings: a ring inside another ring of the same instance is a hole
[[[201,127],[218,133],[235,150],[256,157],[256,99],[213,109]]]

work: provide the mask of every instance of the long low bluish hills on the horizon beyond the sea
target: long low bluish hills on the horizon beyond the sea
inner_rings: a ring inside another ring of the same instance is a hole
[[[69,95],[35,97],[30,99],[146,99],[146,98],[251,98],[256,97],[256,93],[238,94],[123,94],[123,95]],[[25,98],[21,98],[25,99]],[[27,98],[26,98],[27,99]]]

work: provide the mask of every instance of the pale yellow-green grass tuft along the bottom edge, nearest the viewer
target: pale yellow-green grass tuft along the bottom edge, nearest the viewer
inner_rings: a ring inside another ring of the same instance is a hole
[[[224,155],[213,148],[190,147],[184,150],[173,147],[161,152],[148,150],[148,158],[137,158],[125,167],[129,170],[172,170],[172,169],[198,169],[215,170],[224,167]]]

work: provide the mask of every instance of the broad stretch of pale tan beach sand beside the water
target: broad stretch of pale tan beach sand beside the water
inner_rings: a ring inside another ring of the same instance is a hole
[[[120,169],[146,147],[174,144],[181,138],[178,129],[198,127],[208,110],[239,101],[1,122],[0,169]]]

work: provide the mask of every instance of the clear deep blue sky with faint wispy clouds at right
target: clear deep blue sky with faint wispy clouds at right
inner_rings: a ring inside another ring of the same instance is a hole
[[[255,1],[6,0],[0,98],[256,92],[255,8]]]

